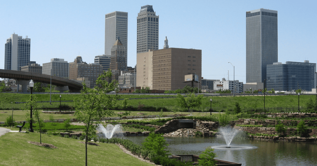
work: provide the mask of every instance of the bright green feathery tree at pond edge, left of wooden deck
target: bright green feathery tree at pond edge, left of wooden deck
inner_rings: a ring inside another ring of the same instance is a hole
[[[169,151],[167,150],[168,144],[163,134],[150,133],[142,145],[148,150],[153,150],[159,156],[167,157],[169,155]]]

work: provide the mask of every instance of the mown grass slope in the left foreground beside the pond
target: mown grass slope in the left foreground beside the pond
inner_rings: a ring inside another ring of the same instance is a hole
[[[7,133],[0,136],[1,165],[84,165],[85,144],[80,140],[42,134],[42,142],[53,144],[57,149],[45,148],[28,143],[40,142],[39,133]],[[88,165],[150,166],[124,153],[117,145],[98,143],[87,145]]]

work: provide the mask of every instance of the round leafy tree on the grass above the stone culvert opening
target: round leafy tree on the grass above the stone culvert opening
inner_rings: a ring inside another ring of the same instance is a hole
[[[176,102],[182,108],[187,108],[188,112],[191,107],[197,107],[202,103],[203,95],[195,96],[194,93],[187,94],[187,97],[184,97],[181,94],[177,94]]]

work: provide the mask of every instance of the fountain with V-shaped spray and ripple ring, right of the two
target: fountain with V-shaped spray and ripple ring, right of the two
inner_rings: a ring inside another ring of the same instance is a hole
[[[220,133],[222,134],[224,140],[226,141],[226,146],[213,146],[213,149],[254,149],[254,146],[230,146],[230,143],[239,133],[237,129],[232,128],[231,126],[220,127]]]

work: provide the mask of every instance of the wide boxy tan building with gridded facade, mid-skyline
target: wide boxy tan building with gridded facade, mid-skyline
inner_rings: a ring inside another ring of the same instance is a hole
[[[166,48],[137,54],[136,86],[177,90],[191,83],[184,76],[197,74],[201,82],[201,50]],[[194,83],[197,87],[198,83]],[[201,85],[200,85],[201,86]]]

